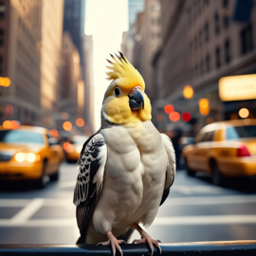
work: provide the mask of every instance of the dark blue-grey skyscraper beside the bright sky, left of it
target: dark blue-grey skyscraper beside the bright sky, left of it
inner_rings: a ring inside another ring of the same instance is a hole
[[[84,13],[85,0],[64,1],[64,31],[68,31],[70,33],[73,44],[78,48],[83,69]],[[84,75],[82,75],[82,78],[83,80],[85,79]]]

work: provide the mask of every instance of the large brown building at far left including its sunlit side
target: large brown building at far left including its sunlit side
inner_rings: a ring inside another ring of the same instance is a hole
[[[64,1],[1,1],[0,71],[11,83],[0,87],[0,122],[52,125],[63,7]]]

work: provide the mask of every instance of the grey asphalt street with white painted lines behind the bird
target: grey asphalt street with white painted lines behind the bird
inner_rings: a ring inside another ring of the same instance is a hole
[[[72,204],[76,164],[46,189],[0,185],[0,244],[74,244],[79,237]],[[149,234],[162,243],[256,239],[256,189],[215,187],[206,176],[178,171],[169,198]],[[134,232],[132,239],[139,238]]]

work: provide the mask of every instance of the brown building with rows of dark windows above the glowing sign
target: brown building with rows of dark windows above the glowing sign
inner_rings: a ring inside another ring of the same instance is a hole
[[[218,89],[221,77],[256,73],[256,1],[249,6],[227,0],[160,2],[163,41],[154,63],[158,113],[172,103],[180,114],[190,111],[200,126],[238,118],[241,107],[256,118],[255,100],[221,101]],[[194,91],[191,100],[183,97],[187,84]],[[209,101],[206,116],[199,113],[202,98]]]

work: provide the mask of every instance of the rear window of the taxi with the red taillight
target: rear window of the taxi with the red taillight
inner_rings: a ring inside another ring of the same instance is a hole
[[[227,128],[227,139],[256,137],[256,125],[237,126]]]

